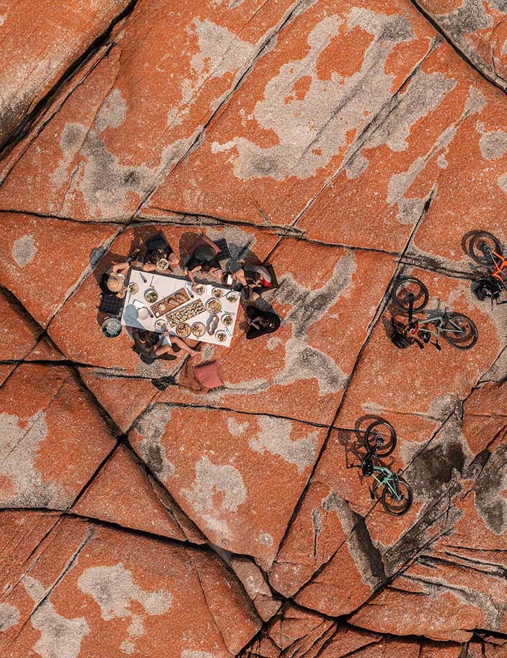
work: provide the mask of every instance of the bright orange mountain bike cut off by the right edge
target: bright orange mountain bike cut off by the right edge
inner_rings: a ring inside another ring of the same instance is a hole
[[[488,276],[478,281],[477,296],[497,300],[502,290],[507,290],[505,276],[507,260],[503,258],[503,247],[497,237],[486,231],[478,231],[468,244],[468,253],[478,265],[489,267]],[[505,302],[496,302],[504,304]]]

